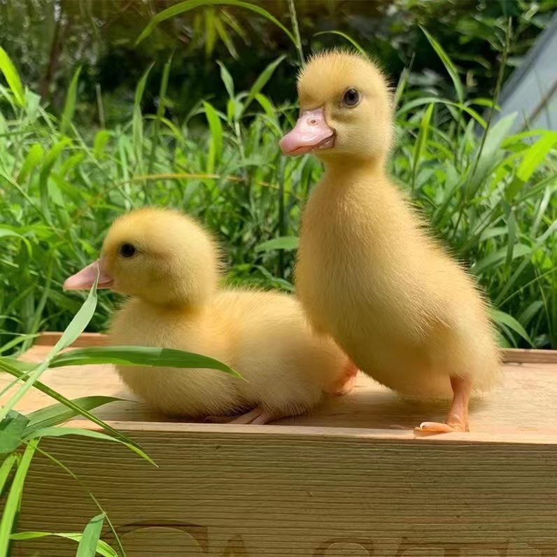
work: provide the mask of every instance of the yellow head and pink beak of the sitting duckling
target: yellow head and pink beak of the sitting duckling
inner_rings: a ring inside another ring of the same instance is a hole
[[[220,258],[215,242],[192,218],[166,209],[139,209],[115,220],[99,260],[64,283],[165,305],[202,304],[216,290]]]

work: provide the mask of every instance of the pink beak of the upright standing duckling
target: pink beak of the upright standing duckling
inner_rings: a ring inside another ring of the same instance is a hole
[[[279,145],[283,154],[289,157],[334,146],[334,130],[327,126],[323,108],[304,111],[292,132],[286,134]]]

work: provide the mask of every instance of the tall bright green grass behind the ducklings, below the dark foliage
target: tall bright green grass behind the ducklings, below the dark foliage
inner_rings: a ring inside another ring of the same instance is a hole
[[[141,113],[148,71],[127,125],[109,129],[73,125],[78,72],[60,120],[36,94],[1,90],[0,346],[31,342],[14,335],[64,329],[82,302],[62,293],[64,279],[97,257],[113,218],[137,206],[201,218],[227,250],[232,282],[292,290],[292,242],[257,248],[296,236],[322,169],[312,157],[286,160],[279,151],[295,107],[273,106],[262,91],[281,63],[248,92],[236,92],[220,65],[230,95],[223,110],[200,99],[181,125],[164,117],[164,76],[160,110]],[[557,134],[509,136],[507,118],[483,137],[479,111],[489,101],[428,98],[402,87],[399,95],[393,176],[495,307],[516,319],[496,314],[507,344],[529,346],[530,338],[557,348]],[[103,329],[112,306],[111,295],[99,293],[90,330]]]

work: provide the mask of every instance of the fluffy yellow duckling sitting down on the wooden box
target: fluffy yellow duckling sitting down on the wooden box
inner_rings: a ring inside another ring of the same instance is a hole
[[[115,220],[101,257],[64,290],[110,288],[129,299],[113,316],[111,344],[157,346],[211,356],[215,369],[115,366],[122,381],[165,414],[246,414],[264,424],[350,390],[355,374],[333,341],[311,331],[299,302],[278,292],[219,290],[220,253],[209,232],[176,211],[140,209]]]

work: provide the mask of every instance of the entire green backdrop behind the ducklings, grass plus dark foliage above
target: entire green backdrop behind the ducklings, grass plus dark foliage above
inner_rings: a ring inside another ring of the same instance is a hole
[[[502,344],[557,348],[557,134],[510,134],[512,117],[493,120],[502,84],[556,9],[0,1],[13,63],[3,59],[0,81],[1,351],[66,327],[83,298],[62,282],[135,206],[201,218],[227,250],[230,283],[291,291],[300,210],[322,168],[286,160],[278,142],[295,119],[302,56],[351,43],[396,87],[391,173],[477,276]],[[105,327],[113,304],[102,292],[90,330]]]

